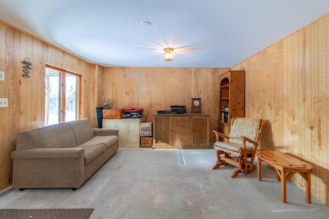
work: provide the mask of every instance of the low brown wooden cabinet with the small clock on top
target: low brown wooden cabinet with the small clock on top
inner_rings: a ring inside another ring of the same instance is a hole
[[[210,115],[154,114],[153,148],[210,149]]]

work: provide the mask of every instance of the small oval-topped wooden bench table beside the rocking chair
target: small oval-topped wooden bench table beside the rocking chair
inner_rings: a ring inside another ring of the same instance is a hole
[[[310,203],[310,173],[312,165],[298,160],[297,158],[285,154],[281,151],[259,149],[257,154],[258,180],[262,180],[261,163],[265,161],[276,169],[277,180],[281,178],[281,201],[287,202],[287,180],[295,173],[299,173],[306,180],[306,202]],[[287,174],[286,174],[287,173]]]

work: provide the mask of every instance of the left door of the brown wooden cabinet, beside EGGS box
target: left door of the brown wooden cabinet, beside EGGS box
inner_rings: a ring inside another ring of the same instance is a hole
[[[153,145],[170,146],[170,116],[156,116],[153,122]]]

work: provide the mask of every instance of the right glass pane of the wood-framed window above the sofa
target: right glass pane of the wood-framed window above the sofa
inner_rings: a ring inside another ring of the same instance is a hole
[[[78,78],[66,73],[65,76],[65,122],[77,120]]]

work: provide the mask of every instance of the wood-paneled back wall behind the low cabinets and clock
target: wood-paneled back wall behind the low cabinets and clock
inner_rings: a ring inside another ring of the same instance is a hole
[[[210,129],[218,127],[218,76],[229,68],[104,68],[102,101],[112,107],[142,107],[143,122],[152,122],[157,110],[186,105],[191,98],[202,98],[202,113],[210,114]],[[211,132],[210,142],[215,142]]]

